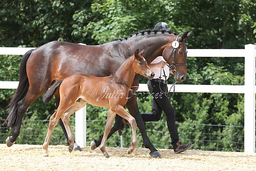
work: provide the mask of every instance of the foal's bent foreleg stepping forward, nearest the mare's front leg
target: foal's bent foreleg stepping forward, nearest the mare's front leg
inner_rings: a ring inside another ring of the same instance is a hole
[[[131,146],[127,150],[127,154],[131,154],[131,153],[133,153],[133,151],[137,145],[137,134],[136,134],[137,123],[136,123],[136,120],[121,105],[115,106],[115,108],[112,110],[114,110],[113,112],[117,113],[119,116],[121,116],[123,119],[126,119],[131,124],[133,138],[132,138]]]

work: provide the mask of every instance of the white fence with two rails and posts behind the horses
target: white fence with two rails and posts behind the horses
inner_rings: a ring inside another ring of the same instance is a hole
[[[176,92],[185,93],[244,93],[244,152],[255,153],[255,57],[256,46],[245,49],[188,49],[191,57],[245,57],[244,86],[176,84]],[[0,55],[23,55],[34,48],[0,48]],[[0,81],[0,89],[16,89],[17,81]],[[168,85],[170,88],[171,85]],[[140,84],[138,91],[148,91]],[[76,112],[76,142],[86,146],[86,107]]]

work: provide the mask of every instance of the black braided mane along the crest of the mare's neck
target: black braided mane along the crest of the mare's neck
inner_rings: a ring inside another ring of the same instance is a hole
[[[144,36],[144,35],[156,35],[158,32],[161,32],[162,34],[174,34],[174,35],[178,35],[178,33],[174,32],[174,31],[171,31],[171,30],[151,30],[151,29],[146,29],[146,30],[141,30],[141,31],[137,31],[135,32],[134,34],[130,34],[129,37],[124,37],[123,39],[122,38],[119,38],[119,39],[114,39],[113,41],[122,41],[122,40],[127,40],[127,39],[130,39],[134,36],[137,36],[137,35],[140,35],[140,36]]]

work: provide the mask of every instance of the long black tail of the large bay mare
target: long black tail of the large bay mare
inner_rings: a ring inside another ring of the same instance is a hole
[[[14,127],[16,122],[17,113],[18,113],[18,102],[26,96],[29,89],[29,80],[27,75],[27,61],[33,51],[34,50],[32,49],[26,52],[22,57],[22,61],[20,62],[18,88],[16,89],[10,103],[8,104],[8,106],[10,107],[10,113],[7,119],[5,120],[5,122],[8,121],[8,126],[11,128]]]

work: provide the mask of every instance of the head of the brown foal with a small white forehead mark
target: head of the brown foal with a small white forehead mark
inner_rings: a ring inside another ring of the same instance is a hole
[[[153,79],[155,73],[148,67],[146,59],[142,56],[145,49],[139,53],[137,49],[134,53],[133,69],[137,74],[140,74],[148,79]]]

